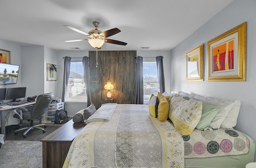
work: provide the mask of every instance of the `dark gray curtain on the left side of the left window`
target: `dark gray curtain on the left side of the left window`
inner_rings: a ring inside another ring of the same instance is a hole
[[[62,89],[62,102],[64,104],[64,110],[65,110],[65,98],[66,98],[66,92],[68,88],[68,77],[70,72],[70,63],[71,63],[71,57],[66,56],[64,59],[64,75],[63,75],[63,89]]]

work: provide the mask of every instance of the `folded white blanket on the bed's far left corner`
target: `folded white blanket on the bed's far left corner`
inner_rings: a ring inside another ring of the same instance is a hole
[[[102,108],[104,106],[104,108]],[[103,121],[108,122],[110,121],[117,104],[116,103],[107,103],[102,104],[101,107],[96,110],[94,114],[92,114],[87,120],[84,120],[85,124],[88,124],[90,122],[97,122],[97,121]]]

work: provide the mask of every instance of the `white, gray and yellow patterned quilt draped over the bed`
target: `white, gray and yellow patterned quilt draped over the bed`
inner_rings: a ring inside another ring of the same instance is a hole
[[[76,136],[63,167],[183,168],[184,140],[148,105],[118,104],[109,122],[91,122]]]

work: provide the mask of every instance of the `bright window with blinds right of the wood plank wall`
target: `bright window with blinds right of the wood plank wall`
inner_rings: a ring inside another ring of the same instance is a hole
[[[151,94],[157,95],[158,92],[156,58],[143,58],[143,103],[148,104]]]

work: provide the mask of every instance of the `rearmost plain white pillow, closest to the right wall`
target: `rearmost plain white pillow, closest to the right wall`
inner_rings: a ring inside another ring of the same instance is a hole
[[[207,99],[217,99],[212,97],[204,97]],[[222,101],[230,101],[234,102],[233,108],[228,112],[228,115],[226,116],[225,120],[222,122],[221,126],[222,128],[233,128],[236,126],[238,114],[240,111],[241,101],[240,100],[222,100]]]

